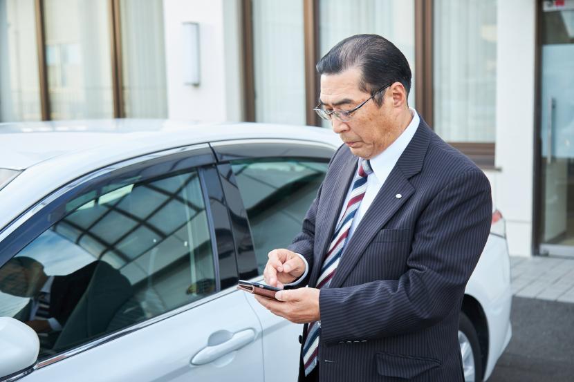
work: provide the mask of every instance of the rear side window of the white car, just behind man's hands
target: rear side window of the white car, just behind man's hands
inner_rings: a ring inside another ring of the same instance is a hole
[[[287,247],[301,230],[327,167],[328,163],[313,160],[232,162],[247,210],[259,274],[263,273],[269,251]]]

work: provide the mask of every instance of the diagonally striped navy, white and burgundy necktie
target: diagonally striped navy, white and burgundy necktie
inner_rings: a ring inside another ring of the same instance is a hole
[[[335,275],[335,269],[339,265],[341,254],[343,253],[346,239],[349,236],[349,229],[353,223],[355,213],[359,209],[359,204],[364,198],[364,192],[367,191],[367,176],[372,173],[369,160],[359,160],[358,177],[353,182],[351,198],[346,204],[345,212],[337,222],[331,244],[328,247],[326,256],[323,260],[319,278],[317,279],[317,288],[328,287],[331,279]],[[305,375],[307,376],[317,365],[317,352],[319,352],[319,334],[321,330],[321,321],[313,321],[307,328],[307,338],[303,345],[303,364]]]

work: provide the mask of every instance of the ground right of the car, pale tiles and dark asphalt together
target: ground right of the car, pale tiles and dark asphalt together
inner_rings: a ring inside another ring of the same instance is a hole
[[[510,260],[512,340],[488,382],[573,382],[574,259]]]

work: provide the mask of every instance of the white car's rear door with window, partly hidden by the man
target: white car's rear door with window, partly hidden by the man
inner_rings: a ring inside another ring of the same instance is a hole
[[[268,252],[287,247],[300,231],[335,150],[297,140],[230,141],[212,146],[238,222],[236,236],[248,232],[251,238],[251,247],[246,246],[240,258],[243,266],[239,267],[246,270],[240,277],[260,281]],[[256,269],[252,269],[253,261]],[[253,296],[248,297],[263,327],[266,381],[295,381],[302,325],[271,314]]]

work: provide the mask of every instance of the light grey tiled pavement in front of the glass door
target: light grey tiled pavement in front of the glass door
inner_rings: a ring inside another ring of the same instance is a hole
[[[512,294],[574,303],[574,259],[510,256]]]

